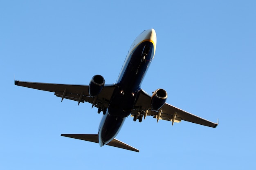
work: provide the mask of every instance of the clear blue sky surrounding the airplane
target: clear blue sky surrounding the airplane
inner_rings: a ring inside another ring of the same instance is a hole
[[[139,153],[61,137],[97,133],[91,104],[15,86],[116,81],[133,40],[154,28],[142,88],[216,122],[128,117],[117,135]],[[256,1],[1,1],[0,170],[255,170]]]

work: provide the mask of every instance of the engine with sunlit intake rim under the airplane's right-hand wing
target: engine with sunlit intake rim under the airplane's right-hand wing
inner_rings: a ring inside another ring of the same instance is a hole
[[[164,89],[158,88],[151,97],[151,108],[159,110],[164,106],[167,99],[167,92]]]

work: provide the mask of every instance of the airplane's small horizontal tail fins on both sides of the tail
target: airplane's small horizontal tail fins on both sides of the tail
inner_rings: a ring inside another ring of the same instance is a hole
[[[97,134],[61,134],[61,136],[99,143],[99,136]],[[133,148],[132,146],[127,145],[124,142],[121,142],[117,139],[113,139],[107,145],[139,152],[139,150],[137,150],[136,148]]]

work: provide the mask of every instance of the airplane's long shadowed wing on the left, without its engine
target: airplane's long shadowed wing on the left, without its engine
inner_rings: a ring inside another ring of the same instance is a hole
[[[103,87],[103,90],[97,97],[90,97],[88,91],[88,85],[73,85],[73,84],[52,84],[52,83],[37,83],[37,82],[22,82],[15,81],[15,85],[28,88],[34,88],[43,91],[54,92],[54,95],[61,97],[61,101],[70,99],[80,102],[89,102],[96,107],[108,107],[108,102],[114,91],[115,85],[109,84]]]

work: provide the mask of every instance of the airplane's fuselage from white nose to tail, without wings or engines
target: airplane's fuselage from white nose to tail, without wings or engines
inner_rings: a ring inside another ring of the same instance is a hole
[[[106,115],[99,125],[99,144],[103,146],[114,139],[124,121],[132,112],[141,82],[155,55],[155,30],[143,31],[132,43],[117,78]]]

